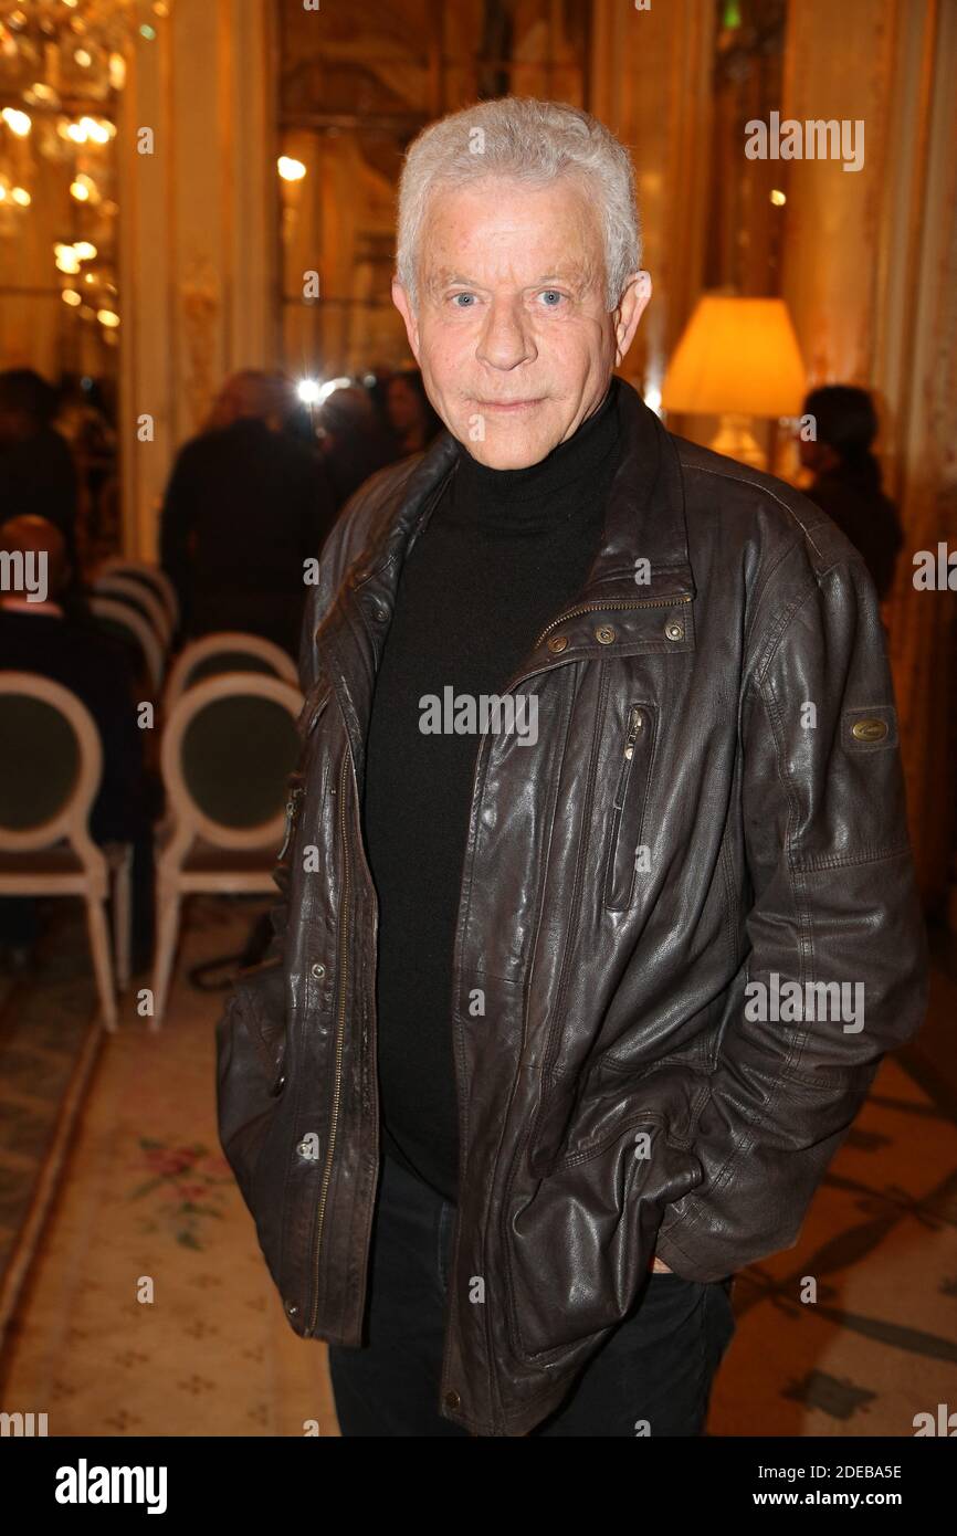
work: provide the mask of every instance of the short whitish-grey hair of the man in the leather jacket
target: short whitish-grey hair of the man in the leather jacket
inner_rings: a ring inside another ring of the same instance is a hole
[[[565,175],[579,177],[601,210],[605,309],[616,309],[642,255],[631,157],[588,112],[533,97],[499,97],[452,112],[409,146],[399,181],[396,275],[413,307],[418,246],[436,187],[488,177],[538,187]]]

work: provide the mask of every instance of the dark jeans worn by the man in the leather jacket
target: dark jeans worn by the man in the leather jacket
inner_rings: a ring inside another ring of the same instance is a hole
[[[384,1157],[367,1346],[329,1349],[343,1435],[469,1435],[438,1410],[455,1206]],[[650,1273],[634,1310],[531,1433],[702,1435],[736,1327],[731,1284]]]

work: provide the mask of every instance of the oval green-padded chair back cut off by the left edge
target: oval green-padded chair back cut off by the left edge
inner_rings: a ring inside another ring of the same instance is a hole
[[[68,837],[89,851],[103,748],[89,710],[38,673],[0,671],[0,849],[32,852]]]

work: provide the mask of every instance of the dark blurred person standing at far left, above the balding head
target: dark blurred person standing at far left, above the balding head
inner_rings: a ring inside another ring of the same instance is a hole
[[[0,373],[0,516],[46,518],[77,571],[77,468],[55,430],[58,396],[34,369]]]

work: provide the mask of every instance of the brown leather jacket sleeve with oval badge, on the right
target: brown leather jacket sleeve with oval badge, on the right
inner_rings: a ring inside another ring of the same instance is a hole
[[[697,1281],[794,1247],[883,1054],[926,1003],[877,593],[843,539],[830,568],[803,570],[782,561],[760,604],[740,725],[751,948],[694,1132],[704,1178],[657,1236]]]

